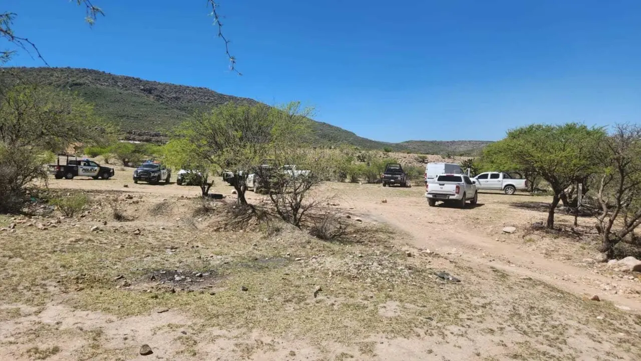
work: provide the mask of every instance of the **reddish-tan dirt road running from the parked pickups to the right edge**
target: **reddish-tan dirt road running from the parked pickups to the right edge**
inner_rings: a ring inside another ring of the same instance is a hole
[[[572,244],[559,239],[554,245],[554,240],[536,240],[535,236],[527,234],[528,225],[545,220],[546,214],[523,209],[523,206],[547,202],[546,197],[483,193],[479,195],[478,206],[457,209],[445,204],[429,207],[422,197],[422,188],[369,185],[351,188],[360,189],[347,192],[351,196],[344,199],[349,207],[360,210],[363,216],[410,234],[410,240],[416,247],[458,257],[475,267],[495,267],[539,279],[575,294],[601,295],[619,308],[641,312],[637,278],[597,273],[595,268],[599,265],[590,258],[595,254],[592,251],[594,244],[581,248],[578,241]],[[383,203],[383,200],[387,202]],[[558,225],[569,226],[573,222],[573,218],[567,215],[560,214],[557,218]],[[591,218],[579,219],[579,227],[583,229],[590,228],[592,224]],[[503,233],[505,226],[515,226],[517,232]],[[624,288],[628,292],[620,294],[616,288]]]

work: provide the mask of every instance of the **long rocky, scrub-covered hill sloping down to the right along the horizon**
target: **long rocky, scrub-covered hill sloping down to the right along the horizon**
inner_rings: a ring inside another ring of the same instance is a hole
[[[256,100],[221,94],[203,87],[189,87],[112,75],[92,69],[55,67],[5,67],[0,76],[22,82],[49,85],[73,91],[94,103],[96,113],[119,125],[129,137],[163,139],[171,128],[194,110],[208,109],[229,101]],[[314,141],[319,145],[354,145],[363,149],[391,148],[424,154],[474,154],[487,141],[406,141],[386,143],[359,137],[353,132],[315,121]]]

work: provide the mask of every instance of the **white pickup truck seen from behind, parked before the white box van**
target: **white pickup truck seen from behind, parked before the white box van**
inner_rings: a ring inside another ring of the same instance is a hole
[[[456,203],[460,208],[465,207],[468,200],[474,205],[478,202],[478,192],[474,180],[465,174],[442,174],[436,179],[429,180],[425,185],[425,197],[433,207],[438,201]]]

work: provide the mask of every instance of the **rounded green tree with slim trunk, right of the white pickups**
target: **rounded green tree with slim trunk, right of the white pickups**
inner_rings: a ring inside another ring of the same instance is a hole
[[[510,130],[505,139],[488,146],[483,157],[495,170],[530,169],[549,183],[554,195],[547,228],[553,229],[554,210],[565,190],[597,171],[596,145],[604,136],[602,128],[578,123],[534,124]]]

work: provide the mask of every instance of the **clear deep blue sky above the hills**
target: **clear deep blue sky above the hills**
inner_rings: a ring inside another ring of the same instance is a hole
[[[529,123],[638,123],[638,0],[10,1],[51,66],[203,86],[382,141],[496,140]],[[6,48],[6,44],[0,43]],[[42,66],[25,53],[10,66]]]

